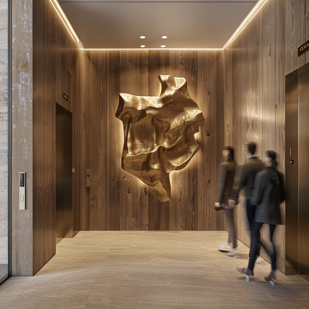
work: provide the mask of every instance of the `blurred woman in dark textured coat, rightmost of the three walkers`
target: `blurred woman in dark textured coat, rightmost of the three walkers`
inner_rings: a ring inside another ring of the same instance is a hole
[[[264,223],[269,224],[270,243],[272,252],[268,252],[271,259],[271,272],[265,277],[271,285],[275,285],[276,277],[276,248],[272,241],[273,232],[277,224],[282,224],[280,203],[285,200],[283,175],[277,171],[276,153],[273,150],[265,151],[266,170],[256,174],[253,193],[250,202],[256,205],[254,225],[251,232],[251,250],[249,253],[248,268],[237,268],[240,273],[246,274],[246,281],[253,277],[254,260],[260,248],[259,232]],[[265,247],[265,246],[264,246]],[[267,246],[265,247],[267,248]]]

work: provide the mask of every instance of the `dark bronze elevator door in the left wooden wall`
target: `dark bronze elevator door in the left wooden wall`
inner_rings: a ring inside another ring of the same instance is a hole
[[[63,168],[62,175],[63,187],[60,188],[61,192],[57,192],[57,183],[59,184],[59,171],[57,172],[57,148],[56,148],[56,219],[60,217],[60,212],[63,212],[63,234],[61,237],[57,235],[57,225],[59,225],[56,220],[56,243],[58,243],[62,238],[72,238],[73,237],[73,121],[72,113],[66,108],[56,103],[56,117],[62,116],[63,119],[63,139],[61,143],[63,146]],[[57,119],[56,119],[57,124]],[[59,137],[58,137],[59,138]],[[56,127],[56,147],[57,147],[57,127]],[[59,188],[59,187],[58,187]],[[59,189],[58,189],[59,190]],[[57,199],[60,199],[57,201]],[[59,203],[59,204],[58,204]],[[57,205],[60,206],[61,210],[58,209]],[[59,218],[58,218],[59,219]],[[59,234],[59,233],[58,233]]]

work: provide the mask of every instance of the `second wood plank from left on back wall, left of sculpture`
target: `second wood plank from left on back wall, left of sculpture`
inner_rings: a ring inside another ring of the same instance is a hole
[[[106,231],[106,51],[91,51],[90,62],[90,229]]]

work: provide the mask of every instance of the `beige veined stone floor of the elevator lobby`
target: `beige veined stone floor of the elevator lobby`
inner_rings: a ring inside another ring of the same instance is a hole
[[[0,286],[0,308],[309,308],[309,281],[247,266],[218,251],[227,232],[84,231],[57,244],[56,255],[34,277],[11,277]]]

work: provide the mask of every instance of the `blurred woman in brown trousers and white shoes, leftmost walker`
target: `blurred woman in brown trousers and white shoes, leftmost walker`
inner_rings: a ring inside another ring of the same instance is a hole
[[[232,146],[226,146],[222,151],[225,162],[219,164],[217,177],[217,202],[215,203],[215,210],[224,210],[227,221],[229,237],[227,244],[220,245],[219,249],[222,251],[236,252],[236,233],[233,220],[234,207],[229,207],[228,200],[230,199],[236,163],[234,162],[234,149]]]

